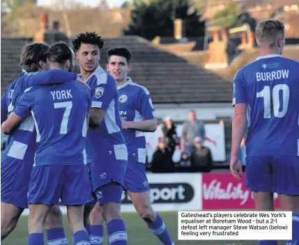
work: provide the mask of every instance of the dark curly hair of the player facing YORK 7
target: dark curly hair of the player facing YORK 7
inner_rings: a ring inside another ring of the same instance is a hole
[[[76,38],[72,40],[72,46],[77,51],[81,47],[82,43],[88,45],[98,45],[99,49],[102,49],[105,40],[102,39],[97,33],[86,31],[84,33],[78,33]]]

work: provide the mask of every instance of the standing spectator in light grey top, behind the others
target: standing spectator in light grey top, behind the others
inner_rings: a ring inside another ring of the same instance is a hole
[[[191,110],[189,112],[189,120],[187,120],[183,125],[182,136],[185,151],[188,155],[190,155],[194,150],[195,137],[201,138],[202,141],[204,141],[204,139],[206,138],[206,129],[204,128],[204,122],[197,120],[197,116],[194,110]]]

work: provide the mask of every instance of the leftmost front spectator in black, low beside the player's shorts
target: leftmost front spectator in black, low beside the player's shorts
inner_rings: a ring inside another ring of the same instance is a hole
[[[153,154],[151,161],[151,171],[153,173],[170,173],[174,171],[174,162],[170,150],[164,141],[158,144],[157,150]]]

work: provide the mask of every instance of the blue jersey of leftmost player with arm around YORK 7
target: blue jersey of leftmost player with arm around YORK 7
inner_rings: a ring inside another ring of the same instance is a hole
[[[32,86],[45,84],[59,84],[76,79],[75,73],[62,70],[47,70],[45,72],[26,72],[10,83],[1,97],[1,124],[15,109],[17,102],[23,95],[24,90]],[[4,155],[16,159],[33,161],[36,152],[36,130],[31,115],[24,119],[18,129],[8,137],[8,146],[3,151]]]

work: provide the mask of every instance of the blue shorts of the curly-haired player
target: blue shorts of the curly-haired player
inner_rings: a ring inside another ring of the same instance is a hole
[[[125,160],[91,162],[91,181],[93,182],[93,189],[96,190],[110,182],[116,182],[123,186],[127,162],[128,161]]]

